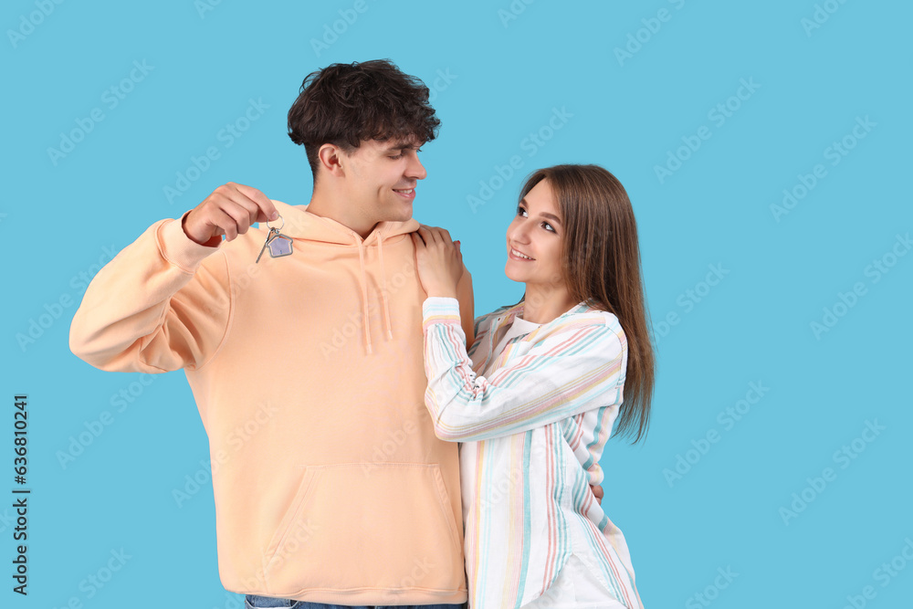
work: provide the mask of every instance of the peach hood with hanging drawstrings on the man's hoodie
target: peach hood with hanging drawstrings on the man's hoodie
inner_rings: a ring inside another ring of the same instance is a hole
[[[368,279],[365,271],[364,257],[366,247],[377,247],[378,271],[381,276],[381,302],[383,307],[383,325],[387,340],[394,337],[390,324],[390,303],[387,299],[387,275],[383,268],[383,240],[390,237],[414,233],[421,226],[415,218],[405,222],[379,222],[371,234],[362,239],[362,236],[349,228],[328,217],[311,214],[308,205],[288,205],[281,201],[270,199],[282,220],[270,223],[279,228],[282,235],[292,239],[348,245],[358,248],[359,284],[362,289],[362,329],[364,333],[364,348],[373,353],[371,344],[371,320],[368,316]],[[283,220],[285,223],[283,224]],[[268,231],[267,223],[261,222],[260,228]]]

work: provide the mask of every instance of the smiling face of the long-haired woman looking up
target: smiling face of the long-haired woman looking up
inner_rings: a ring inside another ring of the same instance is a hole
[[[508,226],[508,262],[504,273],[514,281],[563,286],[561,214],[548,180],[532,187],[519,202]]]

